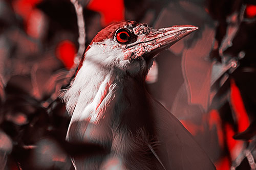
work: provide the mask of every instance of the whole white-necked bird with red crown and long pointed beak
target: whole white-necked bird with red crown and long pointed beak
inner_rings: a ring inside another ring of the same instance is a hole
[[[74,158],[77,169],[214,169],[145,88],[155,55],[196,29],[122,21],[98,33],[64,96],[72,114],[67,139],[99,143],[108,153]]]

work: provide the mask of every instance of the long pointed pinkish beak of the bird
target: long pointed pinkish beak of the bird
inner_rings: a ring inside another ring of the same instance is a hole
[[[127,45],[126,49],[135,47],[144,48],[144,52],[141,56],[145,59],[151,59],[162,50],[172,46],[174,43],[197,29],[198,27],[189,25],[152,29],[147,34],[138,36],[137,41]],[[135,56],[134,58],[137,57]]]

